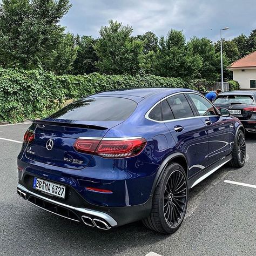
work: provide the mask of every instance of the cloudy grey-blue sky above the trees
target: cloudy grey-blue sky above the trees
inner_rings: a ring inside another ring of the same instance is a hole
[[[62,19],[66,30],[98,37],[100,26],[109,19],[133,26],[133,35],[152,31],[166,36],[173,28],[187,39],[219,39],[219,30],[229,26],[223,37],[256,29],[256,0],[71,0],[72,8]]]

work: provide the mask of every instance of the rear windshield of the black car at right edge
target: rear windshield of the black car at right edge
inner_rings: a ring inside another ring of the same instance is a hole
[[[254,104],[250,95],[220,95],[214,100],[214,104]]]

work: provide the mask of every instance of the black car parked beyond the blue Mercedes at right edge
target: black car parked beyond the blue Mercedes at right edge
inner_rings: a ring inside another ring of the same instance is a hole
[[[256,133],[256,91],[227,91],[220,93],[214,105],[225,107],[240,119],[247,132]]]

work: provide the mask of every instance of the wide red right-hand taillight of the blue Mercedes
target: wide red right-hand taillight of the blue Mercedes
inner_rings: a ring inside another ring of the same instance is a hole
[[[147,141],[144,138],[77,139],[73,147],[83,153],[94,153],[105,158],[133,157],[142,152]]]

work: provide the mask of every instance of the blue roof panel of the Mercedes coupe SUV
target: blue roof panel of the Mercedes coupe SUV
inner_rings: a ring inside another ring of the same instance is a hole
[[[147,87],[147,88],[127,88],[127,89],[116,89],[111,91],[99,92],[97,96],[118,96],[118,95],[126,95],[126,96],[136,96],[147,98],[152,95],[171,95],[176,92],[185,92],[185,91],[193,91],[184,88],[166,88],[166,87]]]

